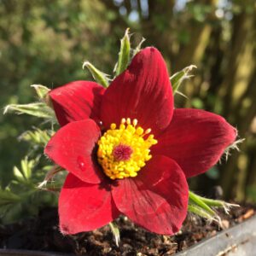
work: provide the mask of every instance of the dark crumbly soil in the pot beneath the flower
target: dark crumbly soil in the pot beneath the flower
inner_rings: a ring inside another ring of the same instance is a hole
[[[70,253],[71,255],[173,255],[203,238],[212,237],[218,231],[241,223],[255,213],[255,207],[233,208],[230,215],[220,213],[222,228],[205,220],[189,215],[176,236],[159,236],[132,224],[120,217],[121,244],[117,247],[108,225],[100,230],[81,233],[76,236],[62,236],[58,230],[57,210],[44,209],[38,218],[20,224],[0,226],[0,247]]]

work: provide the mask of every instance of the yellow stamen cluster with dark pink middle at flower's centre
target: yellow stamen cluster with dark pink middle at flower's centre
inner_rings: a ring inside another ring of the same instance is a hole
[[[103,172],[111,179],[136,177],[152,158],[149,148],[157,143],[150,132],[137,126],[137,119],[122,119],[118,128],[111,124],[98,141],[97,156]]]

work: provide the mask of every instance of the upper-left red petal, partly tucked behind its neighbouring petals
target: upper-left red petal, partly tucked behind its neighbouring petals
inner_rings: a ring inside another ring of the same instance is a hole
[[[75,81],[49,92],[61,126],[72,121],[99,121],[102,95],[105,89],[94,82]]]

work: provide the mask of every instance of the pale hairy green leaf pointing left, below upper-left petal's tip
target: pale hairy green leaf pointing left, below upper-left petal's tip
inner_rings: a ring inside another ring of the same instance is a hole
[[[43,119],[55,119],[54,111],[44,102],[10,104],[4,108],[3,114],[5,113],[26,113]]]

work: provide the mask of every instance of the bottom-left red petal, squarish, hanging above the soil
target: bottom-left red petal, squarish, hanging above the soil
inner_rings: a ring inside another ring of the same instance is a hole
[[[59,199],[60,228],[64,234],[95,230],[119,216],[105,184],[88,184],[68,174]]]

